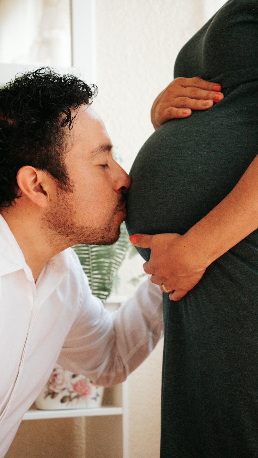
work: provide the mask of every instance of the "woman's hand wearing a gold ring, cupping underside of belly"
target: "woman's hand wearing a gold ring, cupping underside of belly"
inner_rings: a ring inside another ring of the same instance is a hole
[[[161,291],[170,291],[170,300],[180,300],[187,294],[209,265],[200,259],[199,251],[185,235],[135,234],[131,235],[130,241],[135,246],[151,249],[149,261],[143,264],[143,269],[151,274],[152,283],[159,284]]]

